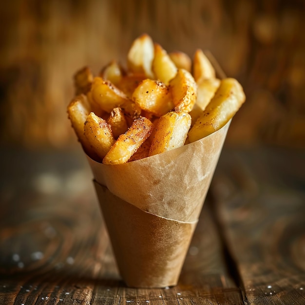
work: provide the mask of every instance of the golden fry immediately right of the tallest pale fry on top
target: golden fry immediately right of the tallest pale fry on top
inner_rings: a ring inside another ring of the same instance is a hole
[[[173,63],[171,57],[158,44],[154,44],[154,57],[152,60],[152,71],[155,77],[161,80],[166,85],[176,75],[177,67]]]

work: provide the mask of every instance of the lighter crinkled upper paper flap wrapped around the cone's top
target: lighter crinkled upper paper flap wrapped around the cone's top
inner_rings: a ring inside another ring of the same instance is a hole
[[[88,157],[95,180],[140,210],[196,221],[229,128],[194,143],[141,160],[105,165]]]

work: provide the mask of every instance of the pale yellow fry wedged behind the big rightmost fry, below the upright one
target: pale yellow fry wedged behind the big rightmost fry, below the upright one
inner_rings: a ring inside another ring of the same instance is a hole
[[[220,85],[220,79],[217,78],[201,78],[197,82],[197,100],[196,104],[205,110],[210,103],[211,98],[215,95]]]

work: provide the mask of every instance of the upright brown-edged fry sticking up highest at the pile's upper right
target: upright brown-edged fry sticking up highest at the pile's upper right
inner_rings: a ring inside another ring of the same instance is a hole
[[[215,78],[215,69],[201,49],[196,50],[194,54],[193,76],[195,81],[200,78]]]

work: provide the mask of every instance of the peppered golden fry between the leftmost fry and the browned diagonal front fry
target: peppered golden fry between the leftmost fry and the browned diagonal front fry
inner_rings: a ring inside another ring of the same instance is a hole
[[[85,121],[84,130],[85,137],[102,160],[115,142],[110,125],[91,112]]]

